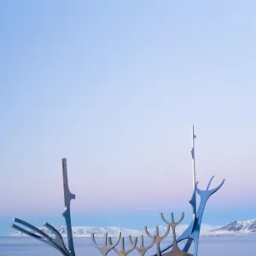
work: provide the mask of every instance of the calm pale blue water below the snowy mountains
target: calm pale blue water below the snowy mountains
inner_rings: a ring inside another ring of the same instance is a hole
[[[166,246],[168,240],[163,241]],[[83,256],[101,255],[90,243],[88,238],[74,239],[76,254]],[[99,241],[100,243],[100,241]],[[147,255],[154,253],[153,248]],[[211,236],[201,237],[199,256],[255,256],[256,236]],[[0,237],[0,256],[58,256],[61,253],[42,242],[28,237]],[[117,255],[108,253],[108,255]],[[130,253],[129,255],[137,255]]]

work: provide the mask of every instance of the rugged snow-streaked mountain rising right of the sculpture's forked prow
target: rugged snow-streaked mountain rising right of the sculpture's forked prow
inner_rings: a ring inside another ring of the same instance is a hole
[[[256,235],[256,219],[233,221],[211,232],[216,235]]]

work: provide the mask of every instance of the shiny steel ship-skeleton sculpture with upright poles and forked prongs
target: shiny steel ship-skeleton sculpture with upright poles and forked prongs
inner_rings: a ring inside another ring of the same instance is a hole
[[[182,212],[182,217],[179,221],[175,222],[173,213],[171,213],[171,223],[166,221],[166,218],[164,218],[163,214],[160,213],[161,219],[167,224],[166,233],[164,236],[160,236],[159,234],[159,228],[158,226],[155,227],[155,236],[152,236],[149,234],[147,226],[144,227],[145,233],[148,237],[151,238],[151,243],[148,247],[144,247],[143,244],[143,236],[140,236],[141,245],[140,247],[137,247],[137,237],[132,241],[131,236],[128,236],[128,240],[131,243],[131,248],[129,250],[125,250],[125,238],[121,237],[121,233],[116,238],[116,241],[113,243],[111,237],[108,238],[108,233],[104,234],[103,238],[103,245],[100,247],[96,241],[95,241],[95,235],[92,233],[91,235],[91,241],[92,244],[99,250],[100,253],[102,253],[102,256],[106,256],[111,250],[113,250],[115,253],[117,253],[119,256],[126,256],[127,254],[131,253],[133,250],[137,250],[138,253],[140,253],[141,256],[145,255],[145,253],[148,251],[149,248],[153,247],[153,245],[156,245],[156,253],[152,256],[197,256],[198,255],[198,244],[199,244],[199,236],[200,236],[200,230],[201,230],[201,221],[203,217],[204,209],[207,205],[207,201],[210,198],[211,195],[213,195],[215,192],[220,189],[223,184],[224,180],[215,188],[215,189],[209,189],[210,185],[212,183],[213,177],[210,179],[207,189],[201,190],[198,188],[198,182],[195,182],[195,131],[194,131],[194,125],[192,125],[192,171],[193,171],[193,195],[191,197],[191,200],[189,201],[189,204],[192,207],[193,211],[193,220],[191,224],[189,224],[189,227],[183,232],[181,236],[176,238],[176,226],[177,224],[180,224],[183,221],[184,212]],[[62,213],[62,216],[65,218],[66,226],[67,226],[67,243],[68,247],[66,247],[65,242],[63,241],[63,238],[61,234],[58,232],[58,230],[55,229],[52,225],[45,223],[44,226],[50,230],[55,237],[51,237],[44,233],[44,231],[39,230],[37,227],[33,226],[32,224],[27,223],[24,220],[21,220],[20,218],[14,218],[14,224],[11,224],[11,227],[13,227],[15,230],[19,230],[22,233],[26,234],[27,236],[32,236],[32,238],[37,239],[38,241],[43,241],[44,243],[48,244],[51,247],[55,247],[62,255],[65,256],[75,256],[75,250],[73,246],[73,232],[72,232],[72,223],[71,223],[71,201],[75,199],[75,195],[73,195],[68,187],[68,180],[67,180],[67,160],[65,158],[62,159],[62,176],[63,176],[63,189],[64,189],[64,202],[65,202],[65,211]],[[201,201],[198,206],[196,207],[196,193],[200,195]],[[26,227],[28,230],[20,227],[17,224],[21,224],[24,227]],[[160,242],[168,236],[170,229],[172,229],[172,236],[173,241],[172,243],[161,249],[160,248]],[[119,241],[121,239],[121,247],[120,250],[116,248],[116,246],[119,244]],[[183,246],[183,249],[181,250],[177,243],[179,241],[186,240],[185,245]],[[189,248],[191,247],[192,242],[194,241],[195,247],[194,247],[194,253],[189,254]],[[167,250],[171,249],[171,251],[166,252]]]

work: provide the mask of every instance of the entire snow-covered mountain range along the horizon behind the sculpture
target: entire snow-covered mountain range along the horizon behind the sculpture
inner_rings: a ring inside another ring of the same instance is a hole
[[[188,227],[188,225],[181,224],[177,226],[177,235]],[[67,236],[67,229],[65,226],[55,226],[55,229],[61,233],[61,236]],[[40,228],[47,235],[53,236],[50,230],[43,227]],[[149,233],[154,235],[155,229],[148,229]],[[108,228],[96,228],[96,227],[73,227],[73,236],[75,237],[86,237],[95,233],[95,236],[103,236],[104,233],[108,232],[108,236],[117,236],[119,232],[122,236],[146,236],[144,230],[129,230],[119,227],[108,227]],[[166,233],[166,227],[159,226],[160,236]],[[247,221],[233,221],[224,226],[212,226],[209,224],[201,225],[201,236],[245,236],[245,235],[256,235],[256,219]],[[11,236],[26,236],[20,231],[12,233]],[[172,236],[172,232],[169,233]]]

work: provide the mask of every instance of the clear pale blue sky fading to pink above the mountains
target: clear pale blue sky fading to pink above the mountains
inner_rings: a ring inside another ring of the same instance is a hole
[[[203,221],[256,218],[256,2],[0,3],[0,235],[14,217],[142,229],[185,212],[191,124]],[[167,218],[167,217],[166,217]]]

